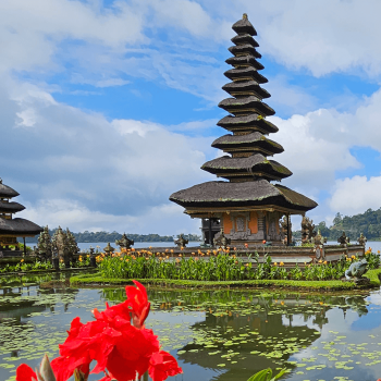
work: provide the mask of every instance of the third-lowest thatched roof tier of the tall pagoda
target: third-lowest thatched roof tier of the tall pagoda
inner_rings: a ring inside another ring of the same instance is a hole
[[[224,135],[216,139],[212,147],[229,151],[229,148],[241,147],[260,147],[272,153],[281,153],[284,151],[283,147],[263,136],[261,133],[255,132],[247,135]]]

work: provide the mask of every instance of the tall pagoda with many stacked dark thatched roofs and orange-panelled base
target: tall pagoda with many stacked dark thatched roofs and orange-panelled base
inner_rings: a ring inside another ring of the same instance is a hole
[[[212,147],[228,155],[201,167],[226,181],[179,190],[170,200],[183,206],[192,218],[208,219],[209,243],[212,221],[232,239],[232,245],[263,239],[281,243],[284,236],[280,219],[286,216],[290,221],[290,214],[304,214],[317,204],[285,186],[270,183],[280,182],[292,172],[269,159],[281,153],[283,147],[268,137],[276,133],[278,127],[266,120],[275,112],[262,101],[270,94],[260,86],[268,79],[258,72],[263,65],[257,61],[261,58],[256,50],[259,45],[253,38],[257,33],[246,14],[233,25],[233,30],[237,34],[232,38],[235,46],[229,50],[234,57],[226,60],[233,69],[224,73],[232,82],[222,87],[232,97],[219,103],[229,115],[217,123],[232,134],[212,143]],[[288,228],[287,233],[290,236]]]

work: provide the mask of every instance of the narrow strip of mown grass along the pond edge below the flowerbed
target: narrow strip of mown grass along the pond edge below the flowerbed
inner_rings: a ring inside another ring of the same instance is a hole
[[[342,281],[292,281],[292,280],[247,280],[247,281],[185,281],[173,279],[137,279],[143,284],[157,284],[162,286],[221,288],[221,287],[279,287],[319,291],[355,290],[380,286],[379,274],[381,269],[369,270],[365,276],[370,279],[367,286],[358,286],[354,282]],[[103,278],[100,273],[72,276],[71,284],[75,285],[125,285],[132,283],[130,279]]]

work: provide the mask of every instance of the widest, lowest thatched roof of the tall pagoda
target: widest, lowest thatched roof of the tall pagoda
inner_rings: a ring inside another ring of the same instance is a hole
[[[266,180],[229,183],[207,182],[171,195],[170,200],[184,208],[234,208],[275,205],[307,211],[317,207],[310,198]],[[212,209],[211,209],[212,211]]]

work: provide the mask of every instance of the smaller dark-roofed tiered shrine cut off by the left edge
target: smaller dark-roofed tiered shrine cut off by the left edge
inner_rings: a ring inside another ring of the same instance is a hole
[[[7,251],[12,245],[19,246],[17,237],[35,236],[42,229],[34,222],[21,218],[13,219],[13,214],[25,209],[19,202],[11,201],[19,193],[4,185],[0,179],[0,251]],[[24,246],[25,249],[25,246]]]

